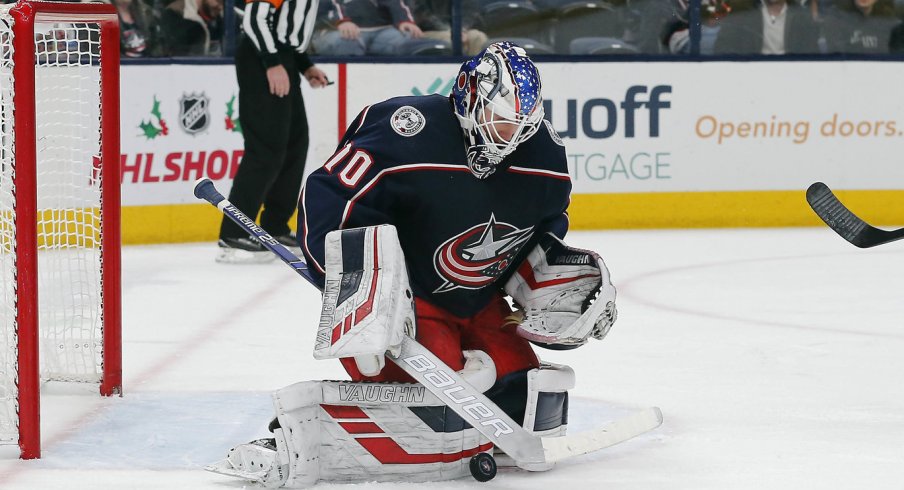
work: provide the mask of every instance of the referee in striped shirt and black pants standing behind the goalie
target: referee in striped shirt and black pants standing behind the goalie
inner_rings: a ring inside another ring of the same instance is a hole
[[[246,0],[243,36],[235,54],[245,153],[229,201],[280,243],[298,247],[289,218],[298,205],[308,152],[301,74],[311,87],[328,83],[305,50],[318,0]],[[273,255],[224,216],[217,262],[265,262]]]

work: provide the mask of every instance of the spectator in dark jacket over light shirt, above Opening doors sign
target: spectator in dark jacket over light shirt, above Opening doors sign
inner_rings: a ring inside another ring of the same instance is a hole
[[[818,53],[819,28],[796,1],[752,0],[733,4],[716,39],[717,54]]]

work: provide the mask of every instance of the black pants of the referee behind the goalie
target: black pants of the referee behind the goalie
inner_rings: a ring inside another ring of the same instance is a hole
[[[236,50],[239,119],[245,153],[229,191],[229,201],[243,213],[254,219],[260,212],[261,227],[273,236],[290,231],[288,222],[298,207],[308,153],[301,74],[291,48],[280,48],[279,55],[291,84],[289,95],[282,98],[270,93],[267,72],[254,44],[243,36]],[[220,238],[246,236],[248,233],[223,217]]]

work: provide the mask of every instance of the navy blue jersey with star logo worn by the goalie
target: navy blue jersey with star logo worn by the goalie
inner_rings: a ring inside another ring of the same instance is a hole
[[[565,147],[548,123],[495,174],[474,177],[461,127],[439,95],[365,108],[302,189],[298,230],[323,284],[330,231],[398,230],[414,294],[460,317],[480,311],[546,231],[568,228]]]

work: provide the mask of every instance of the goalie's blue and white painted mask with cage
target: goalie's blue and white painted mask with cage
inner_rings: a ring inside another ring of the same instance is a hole
[[[452,89],[455,115],[464,132],[468,168],[478,179],[540,128],[540,74],[527,53],[498,42],[461,65]]]

